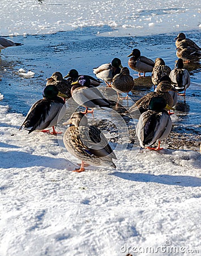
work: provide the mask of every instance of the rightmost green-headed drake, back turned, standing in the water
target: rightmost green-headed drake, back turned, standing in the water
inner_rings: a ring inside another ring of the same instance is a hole
[[[178,93],[178,95],[185,96],[186,89],[190,86],[190,74],[187,69],[183,68],[183,60],[178,59],[176,63],[176,68],[174,68],[169,75],[172,80],[172,86],[178,91],[184,93]]]

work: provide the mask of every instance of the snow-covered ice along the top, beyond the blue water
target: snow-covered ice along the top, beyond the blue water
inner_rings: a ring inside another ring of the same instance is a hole
[[[58,0],[1,1],[2,36],[52,34],[80,27],[109,26],[114,34],[150,35],[199,27],[200,1]],[[12,14],[12,16],[11,16]],[[149,20],[155,26],[149,26]],[[179,28],[178,28],[179,23]],[[135,28],[135,32],[134,32]],[[107,33],[108,34],[108,33]]]

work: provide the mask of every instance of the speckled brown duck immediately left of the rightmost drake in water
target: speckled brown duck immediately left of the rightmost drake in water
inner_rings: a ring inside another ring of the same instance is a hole
[[[163,59],[161,58],[155,59],[155,65],[153,67],[152,76],[151,76],[154,89],[159,84],[161,77],[169,76],[170,72],[171,72],[171,68],[165,65],[165,61]]]

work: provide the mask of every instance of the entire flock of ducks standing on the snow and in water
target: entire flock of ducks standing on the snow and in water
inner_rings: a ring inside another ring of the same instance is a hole
[[[11,40],[0,38],[1,49],[19,46]],[[133,49],[127,56],[130,57],[128,66],[145,77],[146,72],[151,72],[154,91],[146,94],[135,102],[127,115],[138,119],[136,135],[142,148],[161,150],[160,141],[168,137],[172,130],[170,110],[174,110],[177,104],[177,96],[186,95],[186,89],[190,86],[190,74],[183,67],[184,63],[199,63],[201,48],[185,34],[179,33],[176,38],[177,57],[176,67],[171,70],[165,65],[165,61],[157,57],[155,61],[141,56],[139,49]],[[31,106],[20,129],[42,131],[53,135],[59,134],[54,126],[66,113],[66,100],[73,98],[79,105],[85,108],[84,112],[74,112],[69,121],[63,125],[69,125],[63,135],[63,142],[67,151],[82,160],[82,164],[76,172],[84,171],[88,164],[93,166],[110,166],[116,168],[116,155],[109,145],[102,131],[95,125],[88,125],[87,114],[93,115],[96,108],[114,108],[119,101],[129,100],[129,92],[134,88],[134,79],[130,75],[128,67],[122,67],[121,60],[117,57],[111,63],[102,64],[93,68],[95,77],[80,75],[76,69],[71,69],[63,77],[61,72],[54,72],[46,79],[46,86],[42,93],[43,98]],[[108,100],[100,92],[98,86],[105,82],[117,92],[118,102]],[[126,97],[121,97],[126,93]],[[49,128],[52,127],[53,131]],[[158,142],[157,147],[152,147]]]

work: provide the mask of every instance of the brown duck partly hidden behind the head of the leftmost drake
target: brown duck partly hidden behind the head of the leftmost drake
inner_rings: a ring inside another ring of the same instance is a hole
[[[63,79],[62,73],[54,72],[47,80],[46,85],[53,84],[59,90],[58,96],[63,98],[71,97],[71,83]]]

